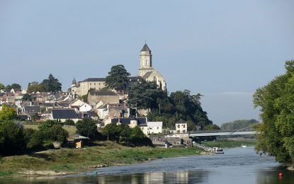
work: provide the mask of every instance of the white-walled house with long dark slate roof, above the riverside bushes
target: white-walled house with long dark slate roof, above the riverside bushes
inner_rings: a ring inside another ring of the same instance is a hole
[[[66,120],[77,122],[81,119],[81,114],[76,113],[74,109],[52,109],[50,116],[50,120],[60,120],[61,122],[65,122]]]

